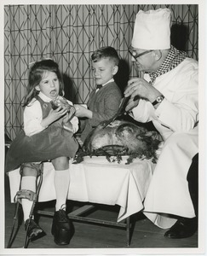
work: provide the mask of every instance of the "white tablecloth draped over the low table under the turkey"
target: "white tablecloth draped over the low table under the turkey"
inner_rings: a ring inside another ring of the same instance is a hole
[[[43,184],[38,201],[55,200],[55,170],[51,163],[44,164]],[[86,157],[82,163],[69,168],[68,199],[106,205],[118,205],[118,222],[143,209],[143,200],[152,177],[151,160],[133,163],[109,163],[105,157]],[[19,169],[9,172],[11,201],[20,187]]]

